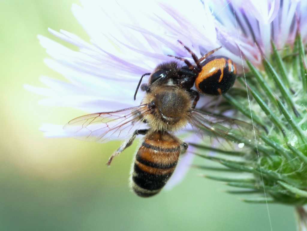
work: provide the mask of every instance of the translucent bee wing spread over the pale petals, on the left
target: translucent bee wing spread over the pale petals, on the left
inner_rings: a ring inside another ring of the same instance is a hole
[[[125,139],[134,130],[147,128],[142,118],[148,112],[147,105],[141,105],[118,111],[93,113],[72,119],[63,129],[77,139],[88,141],[103,143]]]

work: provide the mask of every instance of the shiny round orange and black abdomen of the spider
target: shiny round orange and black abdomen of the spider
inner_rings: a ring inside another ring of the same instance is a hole
[[[230,58],[216,56],[202,63],[195,79],[195,87],[202,94],[222,95],[234,84],[236,67]]]

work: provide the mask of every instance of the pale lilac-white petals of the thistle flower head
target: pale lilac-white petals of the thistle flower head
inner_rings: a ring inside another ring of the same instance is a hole
[[[255,66],[262,65],[255,43],[269,55],[271,40],[278,49],[292,45],[298,28],[307,42],[307,1],[303,0],[216,0],[188,4],[177,0],[110,1],[107,5],[100,0],[80,2],[81,6],[72,5],[72,13],[86,31],[88,42],[68,31],[50,28],[52,36],[76,49],[38,36],[49,55],[46,65],[65,78],[60,81],[42,77],[43,87],[25,85],[25,89],[44,96],[40,101],[44,105],[72,107],[87,113],[139,105],[144,92],[139,91],[136,101],[133,94],[143,73],[151,72],[161,62],[174,60],[167,54],[193,62],[178,39],[199,57],[222,46],[215,55],[231,58],[239,73],[243,70],[241,53]],[[243,65],[247,68],[244,60]],[[147,82],[148,76],[143,81]],[[206,102],[208,99],[201,97],[198,106]],[[42,130],[49,137],[72,136],[62,125],[48,124]],[[191,149],[181,157],[166,188],[181,181],[188,171],[193,160]]]

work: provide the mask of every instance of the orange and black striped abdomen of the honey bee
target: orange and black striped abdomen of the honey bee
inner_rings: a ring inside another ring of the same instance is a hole
[[[163,188],[173,174],[181,152],[180,141],[169,133],[148,133],[135,157],[132,189],[150,197]]]

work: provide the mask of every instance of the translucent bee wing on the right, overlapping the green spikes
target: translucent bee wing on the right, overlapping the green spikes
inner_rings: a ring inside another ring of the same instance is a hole
[[[198,110],[192,111],[190,123],[192,126],[194,125],[200,130],[204,130],[216,137],[222,137],[226,141],[230,140],[248,145],[253,145],[255,142],[255,134],[258,134],[258,130],[256,128],[254,129],[253,125],[247,122],[208,114]]]

